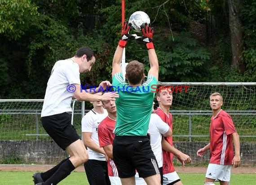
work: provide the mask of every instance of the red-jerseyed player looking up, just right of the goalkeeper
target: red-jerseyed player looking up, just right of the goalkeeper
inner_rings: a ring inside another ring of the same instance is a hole
[[[160,118],[169,125],[172,129],[172,114],[169,112],[172,105],[172,89],[161,87],[157,92],[157,101],[159,107],[154,111]],[[182,153],[174,148],[172,143],[172,136],[164,137],[162,140],[163,149],[163,185],[182,185],[180,177],[177,175],[172,163],[173,155],[184,165],[190,163],[190,156]]]

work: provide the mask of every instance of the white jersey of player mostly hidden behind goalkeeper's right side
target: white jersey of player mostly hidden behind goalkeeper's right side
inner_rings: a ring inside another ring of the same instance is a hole
[[[168,124],[164,123],[159,115],[151,114],[148,134],[150,135],[150,145],[159,167],[163,167],[162,134],[165,134],[168,130]]]

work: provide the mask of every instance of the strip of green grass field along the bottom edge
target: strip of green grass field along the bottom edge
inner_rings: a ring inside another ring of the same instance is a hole
[[[0,172],[0,185],[34,185],[33,172]],[[179,173],[184,185],[203,185],[205,174]],[[230,185],[255,185],[255,174],[231,174]],[[219,185],[219,182],[215,183]],[[58,185],[89,185],[85,172],[72,172]]]

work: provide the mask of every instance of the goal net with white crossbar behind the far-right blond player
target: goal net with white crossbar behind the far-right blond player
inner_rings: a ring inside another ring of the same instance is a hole
[[[206,163],[209,152],[198,158],[197,150],[209,141],[212,116],[209,97],[221,93],[223,110],[228,112],[240,136],[243,165],[256,165],[256,83],[159,83],[171,86],[173,101],[173,143],[195,163]],[[155,100],[155,102],[157,102]],[[253,157],[252,157],[253,156]],[[178,161],[176,160],[178,163]]]

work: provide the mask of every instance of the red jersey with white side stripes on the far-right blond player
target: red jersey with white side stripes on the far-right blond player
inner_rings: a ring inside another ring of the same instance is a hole
[[[210,125],[210,163],[232,164],[234,158],[232,133],[234,132],[236,132],[236,129],[228,113],[221,109],[215,117],[212,115]]]

